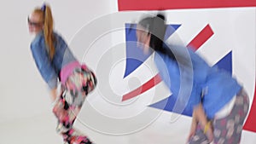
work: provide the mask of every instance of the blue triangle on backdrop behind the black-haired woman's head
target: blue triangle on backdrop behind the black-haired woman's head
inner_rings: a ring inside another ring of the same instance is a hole
[[[126,66],[124,78],[141,66],[150,55],[144,55],[143,50],[137,47],[136,26],[136,24],[125,24]],[[170,37],[179,26],[181,25],[168,25],[165,38]]]

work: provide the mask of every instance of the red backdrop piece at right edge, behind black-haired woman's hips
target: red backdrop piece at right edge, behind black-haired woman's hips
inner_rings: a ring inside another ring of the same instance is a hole
[[[249,115],[247,117],[247,121],[244,124],[243,130],[249,130],[256,132],[256,84],[254,89],[254,97],[253,97],[253,104],[251,107],[251,110],[249,112]]]

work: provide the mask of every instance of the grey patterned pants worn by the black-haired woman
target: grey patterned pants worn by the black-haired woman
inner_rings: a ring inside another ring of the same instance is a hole
[[[236,95],[236,102],[230,114],[224,118],[212,119],[213,143],[214,144],[238,144],[241,140],[241,130],[243,122],[247,116],[249,98],[241,90]],[[189,144],[208,144],[207,136],[199,124],[196,134],[190,139]]]

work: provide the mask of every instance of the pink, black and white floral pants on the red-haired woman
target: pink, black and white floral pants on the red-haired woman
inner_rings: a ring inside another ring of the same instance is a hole
[[[87,136],[73,129],[73,123],[88,93],[96,87],[96,77],[86,66],[76,68],[62,85],[62,93],[53,112],[58,119],[57,132],[67,144],[90,144]]]

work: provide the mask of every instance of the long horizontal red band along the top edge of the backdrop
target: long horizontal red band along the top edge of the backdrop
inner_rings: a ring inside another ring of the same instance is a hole
[[[255,7],[255,0],[118,0],[119,11]]]

